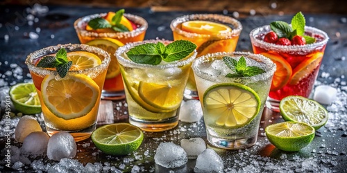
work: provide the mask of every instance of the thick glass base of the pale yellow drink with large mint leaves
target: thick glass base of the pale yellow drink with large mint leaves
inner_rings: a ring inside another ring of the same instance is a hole
[[[129,116],[129,123],[139,127],[143,131],[166,131],[178,125],[178,116],[165,120],[142,120]]]

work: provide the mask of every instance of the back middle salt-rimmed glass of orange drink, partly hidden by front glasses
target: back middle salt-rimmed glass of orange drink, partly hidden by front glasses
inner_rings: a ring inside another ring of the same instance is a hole
[[[224,15],[196,14],[177,17],[171,21],[174,40],[185,39],[198,46],[197,57],[208,53],[235,51],[242,24]],[[193,72],[189,75],[185,98],[197,99]]]

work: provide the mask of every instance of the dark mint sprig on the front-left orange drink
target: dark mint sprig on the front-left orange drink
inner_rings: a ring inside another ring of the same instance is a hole
[[[42,57],[36,66],[42,68],[56,68],[58,75],[60,75],[61,78],[64,78],[65,75],[67,75],[67,71],[71,68],[72,62],[67,60],[67,52],[65,48],[60,48],[55,57]]]

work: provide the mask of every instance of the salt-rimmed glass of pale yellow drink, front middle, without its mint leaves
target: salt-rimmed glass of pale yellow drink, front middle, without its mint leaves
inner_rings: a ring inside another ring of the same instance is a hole
[[[118,48],[116,57],[124,80],[130,124],[144,131],[164,131],[178,125],[178,108],[196,51],[183,60],[149,65],[131,61],[126,53],[146,43],[169,44],[164,40],[145,40]]]

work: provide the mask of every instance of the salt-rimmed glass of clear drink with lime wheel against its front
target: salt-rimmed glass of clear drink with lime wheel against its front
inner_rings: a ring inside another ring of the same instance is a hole
[[[246,59],[247,66],[265,72],[251,77],[227,78],[232,71],[223,62],[224,56]],[[276,64],[252,53],[209,53],[192,64],[208,142],[216,147],[240,149],[257,141],[257,131],[269,94]]]

